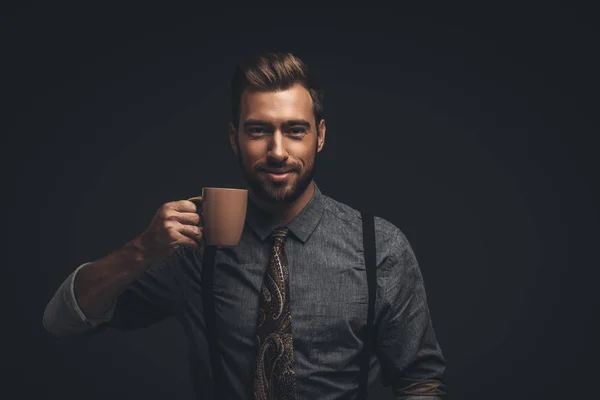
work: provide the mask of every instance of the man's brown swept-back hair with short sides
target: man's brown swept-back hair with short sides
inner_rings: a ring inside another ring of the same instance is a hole
[[[318,126],[323,119],[323,88],[313,71],[291,53],[259,53],[239,65],[231,79],[231,117],[237,129],[240,119],[240,102],[244,90],[279,91],[300,84],[310,94],[313,113]]]

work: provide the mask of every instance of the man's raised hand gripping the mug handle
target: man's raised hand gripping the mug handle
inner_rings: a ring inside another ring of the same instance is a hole
[[[197,247],[203,238],[196,203],[202,197],[192,197],[165,203],[158,209],[148,228],[134,242],[152,263],[167,258],[180,246]]]

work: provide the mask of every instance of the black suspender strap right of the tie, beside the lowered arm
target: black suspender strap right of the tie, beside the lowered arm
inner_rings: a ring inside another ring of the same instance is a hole
[[[377,259],[375,257],[375,218],[373,215],[361,212],[363,224],[363,248],[367,269],[367,285],[369,288],[369,309],[367,314],[367,327],[362,353],[360,370],[359,399],[366,399],[369,389],[369,369],[371,354],[373,352],[373,325],[375,319],[375,295],[377,290]]]

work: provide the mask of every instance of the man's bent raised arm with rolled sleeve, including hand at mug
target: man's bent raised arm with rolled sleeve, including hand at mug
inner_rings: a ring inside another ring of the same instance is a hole
[[[63,282],[46,306],[44,327],[67,336],[89,331],[115,315],[114,325],[120,327],[122,321],[126,329],[169,315],[181,293],[176,279],[178,250],[200,245],[199,218],[190,200],[164,204],[140,236],[80,266]]]

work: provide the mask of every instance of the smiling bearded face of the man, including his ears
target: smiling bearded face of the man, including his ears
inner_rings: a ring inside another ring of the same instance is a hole
[[[244,91],[239,132],[230,141],[252,192],[269,204],[289,204],[308,187],[325,142],[313,103],[301,85],[277,92]]]

